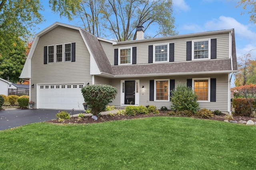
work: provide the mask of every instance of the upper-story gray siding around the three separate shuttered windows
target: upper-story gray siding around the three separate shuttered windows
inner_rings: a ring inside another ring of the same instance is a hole
[[[186,42],[200,39],[217,39],[217,59],[225,59],[229,57],[229,33],[220,33],[216,35],[204,35],[194,37],[182,37],[175,39],[155,40],[155,41],[144,41],[133,43],[117,44],[112,45],[105,41],[100,41],[102,47],[110,61],[111,65],[114,65],[114,49],[121,47],[137,47],[137,63],[144,64],[148,63],[148,45],[174,43],[174,62],[186,61]]]

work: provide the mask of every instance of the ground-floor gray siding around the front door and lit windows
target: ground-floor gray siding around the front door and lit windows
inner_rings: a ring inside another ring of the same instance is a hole
[[[162,106],[170,108],[171,102],[154,102],[149,101],[149,81],[155,79],[175,79],[175,87],[181,84],[186,84],[187,79],[190,78],[216,78],[216,102],[199,102],[200,108],[211,109],[212,111],[218,109],[220,111],[228,111],[228,74],[214,74],[214,75],[195,75],[195,76],[155,76],[155,77],[146,77],[146,78],[136,78],[140,80],[139,87],[139,105],[147,106],[154,105],[158,109]],[[120,88],[121,80],[126,79],[111,79],[112,86],[118,89],[118,94],[116,99],[113,100],[112,105],[120,106]],[[131,80],[131,79],[127,79]],[[144,90],[142,90],[144,86]]]

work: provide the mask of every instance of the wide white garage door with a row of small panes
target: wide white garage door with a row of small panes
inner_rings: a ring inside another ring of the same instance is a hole
[[[38,104],[40,109],[83,110],[81,88],[84,84],[38,85]]]

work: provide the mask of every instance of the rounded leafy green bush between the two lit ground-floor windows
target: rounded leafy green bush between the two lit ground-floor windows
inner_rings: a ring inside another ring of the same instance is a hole
[[[176,111],[190,110],[196,113],[199,104],[197,103],[197,96],[191,87],[179,85],[176,89],[171,90],[171,92],[172,96],[170,96],[170,100],[172,102],[172,109]]]

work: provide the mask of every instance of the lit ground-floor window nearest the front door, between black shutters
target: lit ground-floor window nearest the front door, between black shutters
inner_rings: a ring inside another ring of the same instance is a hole
[[[155,80],[155,101],[169,101],[169,80]]]

